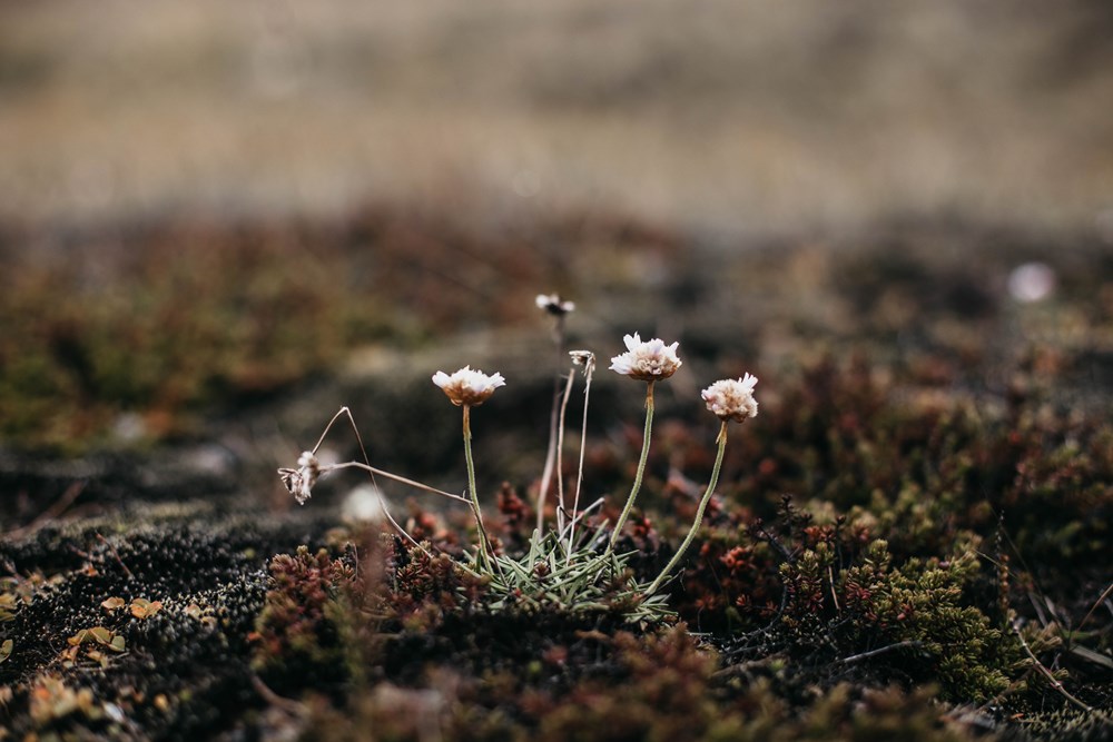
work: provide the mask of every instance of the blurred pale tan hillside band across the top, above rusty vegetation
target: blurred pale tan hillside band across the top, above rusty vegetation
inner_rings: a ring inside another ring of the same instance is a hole
[[[1105,224],[1111,8],[4,3],[0,219],[388,200],[746,231]]]

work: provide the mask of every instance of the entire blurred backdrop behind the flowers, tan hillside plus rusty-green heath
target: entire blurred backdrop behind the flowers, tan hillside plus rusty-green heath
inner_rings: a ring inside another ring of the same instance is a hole
[[[680,338],[678,396],[861,350],[1107,403],[1111,38],[1101,1],[0,4],[4,482],[273,472],[341,404],[439,471],[467,363],[543,455],[553,290],[601,359]]]

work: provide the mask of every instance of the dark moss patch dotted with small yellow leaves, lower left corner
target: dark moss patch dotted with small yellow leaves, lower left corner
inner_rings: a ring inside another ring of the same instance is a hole
[[[0,663],[2,724],[18,735],[189,739],[260,706],[248,635],[266,573],[252,554],[294,548],[306,525],[204,505],[139,507],[0,543],[17,575],[4,590],[19,595],[0,624],[13,644]],[[112,597],[162,605],[140,617],[106,607]],[[97,626],[126,652],[66,642]]]

